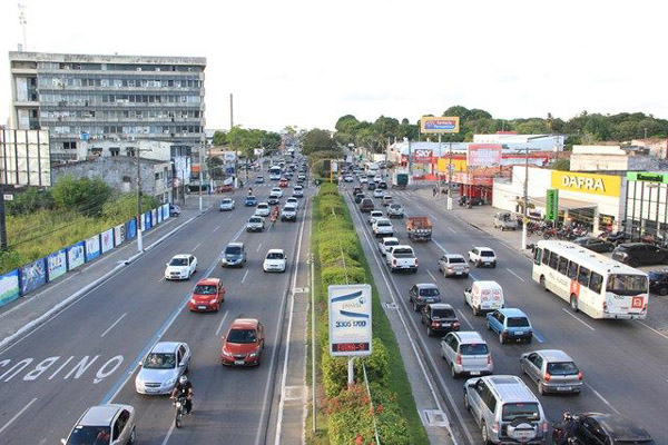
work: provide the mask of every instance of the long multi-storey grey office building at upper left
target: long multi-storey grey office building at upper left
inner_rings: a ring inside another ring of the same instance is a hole
[[[10,52],[10,128],[48,129],[51,160],[77,159],[81,140],[204,136],[204,57]]]

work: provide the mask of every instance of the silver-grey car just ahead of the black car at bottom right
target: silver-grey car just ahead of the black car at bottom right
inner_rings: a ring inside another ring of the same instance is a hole
[[[573,359],[560,349],[541,349],[522,354],[522,373],[538,384],[538,393],[574,393],[582,390],[582,373]]]

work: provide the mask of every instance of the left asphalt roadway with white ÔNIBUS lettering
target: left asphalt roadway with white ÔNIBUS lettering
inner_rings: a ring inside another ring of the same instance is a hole
[[[254,186],[258,200],[273,185]],[[229,212],[218,212],[214,202],[176,236],[0,353],[0,443],[58,443],[87,407],[106,402],[136,408],[138,444],[265,442],[307,198],[302,198],[296,224],[278,222],[268,231],[247,234],[245,222],[254,208],[243,206],[243,195],[245,189],[235,196],[237,208]],[[219,254],[233,240],[245,243],[247,265],[223,269]],[[269,248],[285,249],[287,273],[262,270]],[[165,263],[185,253],[198,259],[195,277],[165,281]],[[225,284],[220,312],[183,310],[197,279],[206,276],[220,277]],[[219,363],[220,336],[237,317],[258,318],[265,325],[266,346],[257,368],[224,368]],[[167,397],[135,393],[137,364],[158,339],[186,342],[193,350],[195,409],[181,429],[173,427],[174,408]]]

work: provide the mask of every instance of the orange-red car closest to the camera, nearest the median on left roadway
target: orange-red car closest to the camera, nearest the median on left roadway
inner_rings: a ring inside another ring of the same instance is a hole
[[[259,366],[264,348],[264,326],[255,318],[233,322],[220,350],[220,362],[227,366]]]

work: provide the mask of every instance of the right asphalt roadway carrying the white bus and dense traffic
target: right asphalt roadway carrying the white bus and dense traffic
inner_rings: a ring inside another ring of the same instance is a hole
[[[350,187],[350,186],[348,186]],[[352,188],[351,188],[352,189]],[[500,243],[491,235],[449,215],[444,200],[438,205],[413,191],[389,190],[395,201],[402,204],[407,215],[430,216],[434,222],[433,240],[410,243],[405,233],[405,219],[393,219],[395,236],[411,244],[419,258],[418,274],[391,274],[384,263],[380,270],[371,255],[380,258],[377,240],[366,222],[367,214],[355,207],[353,218],[362,215],[364,245],[370,265],[375,273],[383,273],[391,280],[400,300],[400,310],[409,315],[414,338],[426,352],[425,359],[433,369],[438,387],[450,400],[450,416],[460,436],[460,443],[480,443],[480,431],[473,417],[463,407],[463,383],[453,379],[440,357],[440,338],[428,337],[416,313],[407,306],[407,290],[415,283],[435,283],[444,303],[455,308],[462,330],[478,330],[488,342],[494,360],[494,374],[521,375],[520,354],[541,348],[566,350],[577,362],[584,376],[584,388],[579,396],[539,396],[549,419],[558,422],[564,411],[621,413],[649,431],[657,443],[668,443],[668,337],[652,330],[640,322],[595,320],[574,314],[569,305],[550,293],[544,293],[531,279],[531,261],[517,250]],[[376,208],[380,207],[374,199]],[[348,202],[351,202],[348,200]],[[475,211],[475,209],[471,209]],[[360,221],[360,219],[357,219]],[[370,246],[371,243],[371,246]],[[495,269],[471,268],[470,278],[444,278],[436,265],[444,253],[466,253],[472,246],[488,246],[497,251]],[[494,279],[504,290],[505,306],[521,308],[531,319],[537,332],[532,344],[501,345],[498,336],[487,329],[484,317],[473,316],[464,305],[463,290],[473,279]],[[651,312],[651,306],[649,307]],[[397,334],[401,335],[401,334]],[[538,395],[536,384],[523,376],[524,382]]]

